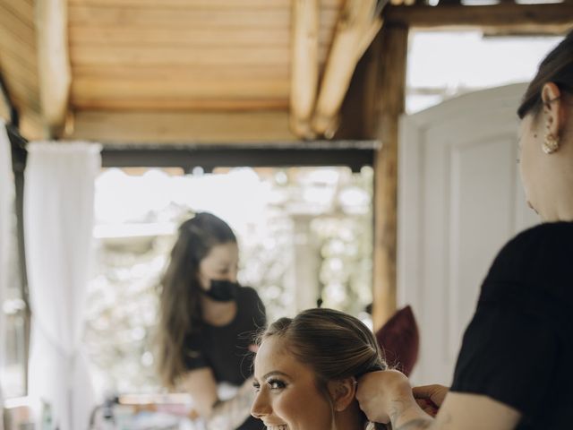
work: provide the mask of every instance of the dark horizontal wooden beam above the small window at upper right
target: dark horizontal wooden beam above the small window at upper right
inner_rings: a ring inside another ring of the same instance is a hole
[[[383,14],[387,23],[416,29],[478,27],[563,34],[573,24],[570,3],[389,6]]]

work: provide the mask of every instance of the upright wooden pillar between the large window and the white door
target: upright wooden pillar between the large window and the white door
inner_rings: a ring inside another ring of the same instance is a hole
[[[374,159],[374,253],[372,320],[377,330],[394,314],[398,211],[398,120],[404,113],[408,29],[389,25],[381,31],[378,138]]]

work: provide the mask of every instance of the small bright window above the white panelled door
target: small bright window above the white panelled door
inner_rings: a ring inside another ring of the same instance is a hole
[[[481,31],[412,31],[406,112],[466,92],[529,82],[558,37],[484,36]]]

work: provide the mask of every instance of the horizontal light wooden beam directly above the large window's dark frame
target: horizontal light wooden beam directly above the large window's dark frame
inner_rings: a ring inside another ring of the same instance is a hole
[[[288,113],[78,111],[69,139],[96,142],[269,143],[295,141]]]

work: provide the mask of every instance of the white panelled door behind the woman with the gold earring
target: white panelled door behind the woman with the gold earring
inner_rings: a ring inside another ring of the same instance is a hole
[[[412,305],[420,328],[414,383],[451,383],[493,258],[538,222],[516,161],[516,109],[525,90],[478,91],[402,118],[398,305]]]

